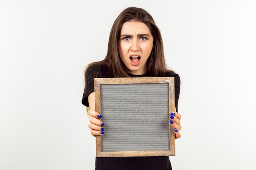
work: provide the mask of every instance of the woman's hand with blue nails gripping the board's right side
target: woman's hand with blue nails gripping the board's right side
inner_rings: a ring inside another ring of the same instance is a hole
[[[181,130],[180,119],[181,119],[181,115],[179,113],[172,112],[170,114],[170,124],[175,131],[175,139],[178,139],[181,137],[181,135],[180,135],[180,130]]]

